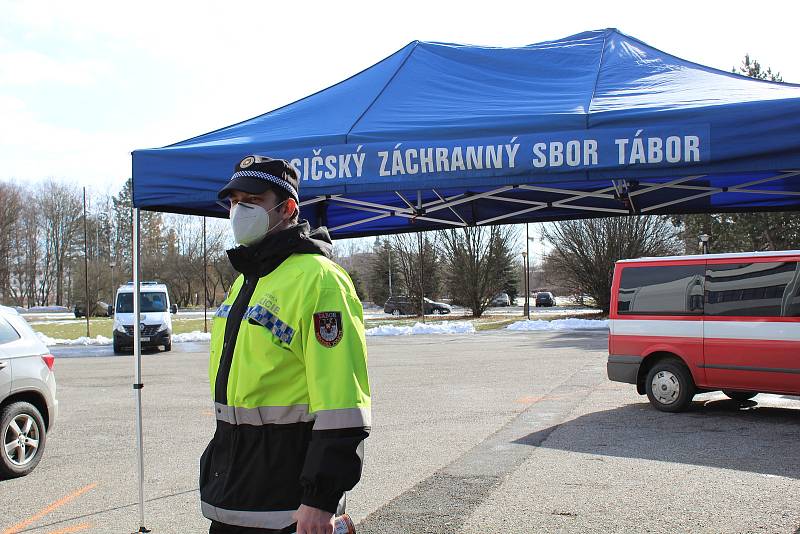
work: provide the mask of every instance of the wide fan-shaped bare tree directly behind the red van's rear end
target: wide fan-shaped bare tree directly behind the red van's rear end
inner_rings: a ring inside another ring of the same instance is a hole
[[[571,287],[591,295],[603,311],[611,300],[617,260],[677,254],[675,227],[665,217],[633,216],[553,223],[542,230],[553,245],[548,258]]]

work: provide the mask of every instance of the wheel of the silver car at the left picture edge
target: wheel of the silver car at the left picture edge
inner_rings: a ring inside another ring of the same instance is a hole
[[[14,402],[0,412],[0,478],[25,476],[39,464],[47,432],[39,410],[29,402]]]

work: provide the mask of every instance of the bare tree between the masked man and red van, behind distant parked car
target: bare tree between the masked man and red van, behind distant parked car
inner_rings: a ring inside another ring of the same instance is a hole
[[[440,232],[447,263],[447,288],[457,302],[480,317],[492,297],[514,277],[513,226],[474,226]]]

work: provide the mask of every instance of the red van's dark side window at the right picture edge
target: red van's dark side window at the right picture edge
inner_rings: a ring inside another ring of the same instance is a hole
[[[711,264],[706,272],[706,314],[798,317],[798,291],[797,262]]]

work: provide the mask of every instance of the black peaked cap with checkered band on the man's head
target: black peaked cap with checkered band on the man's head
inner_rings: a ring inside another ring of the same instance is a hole
[[[233,168],[233,176],[225,187],[217,193],[220,200],[227,198],[231,191],[244,191],[258,195],[270,187],[279,187],[299,204],[300,180],[297,169],[285,159],[266,156],[247,156]]]

